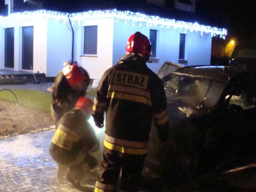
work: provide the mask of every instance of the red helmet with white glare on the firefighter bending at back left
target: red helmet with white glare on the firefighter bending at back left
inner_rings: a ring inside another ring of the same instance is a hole
[[[85,76],[82,74],[80,68],[77,65],[70,64],[63,68],[62,70],[64,76],[66,77],[68,84],[73,86],[82,80],[84,80]]]

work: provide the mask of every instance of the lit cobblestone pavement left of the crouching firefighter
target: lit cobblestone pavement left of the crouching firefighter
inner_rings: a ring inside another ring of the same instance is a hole
[[[56,178],[57,164],[49,154],[54,131],[4,138],[0,141],[0,192],[78,192]],[[93,185],[90,185],[93,191]]]

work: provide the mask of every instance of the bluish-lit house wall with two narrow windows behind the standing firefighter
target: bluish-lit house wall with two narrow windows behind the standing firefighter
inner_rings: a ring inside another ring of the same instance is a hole
[[[161,26],[146,26],[145,22],[141,24],[132,21],[114,23],[114,46],[113,46],[113,65],[125,54],[126,42],[130,35],[136,31],[141,32],[149,38],[150,29],[158,30],[156,58],[150,58],[152,63],[147,66],[155,73],[164,64],[169,61],[183,66],[187,65],[210,65],[211,57],[211,34],[201,32],[185,32],[184,29],[174,29],[170,27],[161,28]],[[179,60],[180,34],[187,34],[186,38],[186,61]]]

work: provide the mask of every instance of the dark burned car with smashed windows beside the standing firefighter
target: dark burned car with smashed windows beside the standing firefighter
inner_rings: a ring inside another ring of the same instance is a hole
[[[188,66],[162,81],[171,138],[159,162],[167,179],[188,181],[256,153],[256,70]]]

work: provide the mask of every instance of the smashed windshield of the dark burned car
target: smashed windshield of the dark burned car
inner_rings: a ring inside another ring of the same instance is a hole
[[[200,114],[214,108],[226,84],[225,81],[180,73],[174,73],[164,82],[168,103],[182,102],[182,107],[200,110]]]

